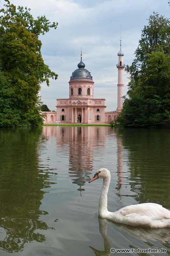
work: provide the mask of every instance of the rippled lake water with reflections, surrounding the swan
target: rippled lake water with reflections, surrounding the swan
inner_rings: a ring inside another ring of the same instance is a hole
[[[170,255],[170,228],[98,218],[111,172],[108,210],[154,202],[170,209],[170,130],[43,126],[0,130],[0,255]],[[166,249],[166,253],[115,249]]]

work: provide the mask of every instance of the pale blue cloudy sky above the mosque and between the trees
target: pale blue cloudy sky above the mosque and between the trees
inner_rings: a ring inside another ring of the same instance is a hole
[[[4,0],[1,0],[2,8]],[[56,99],[69,98],[69,80],[81,58],[94,81],[94,98],[106,99],[105,111],[117,108],[117,53],[120,36],[124,64],[131,65],[141,38],[141,30],[153,12],[170,18],[168,0],[11,0],[27,6],[36,19],[46,16],[58,27],[39,39],[41,54],[49,68],[58,74],[50,86],[41,84],[41,101],[56,111]],[[124,71],[124,95],[129,74]]]

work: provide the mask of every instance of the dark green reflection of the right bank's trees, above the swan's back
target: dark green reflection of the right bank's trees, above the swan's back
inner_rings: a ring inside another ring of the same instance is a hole
[[[135,200],[139,203],[154,202],[167,208],[170,196],[169,130],[140,128],[115,128],[115,130],[117,136],[122,136]]]

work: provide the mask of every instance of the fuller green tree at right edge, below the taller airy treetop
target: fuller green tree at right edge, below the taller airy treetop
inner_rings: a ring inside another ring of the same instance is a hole
[[[152,52],[147,57],[145,74],[140,76],[140,80],[150,123],[170,123],[170,56],[162,51]]]

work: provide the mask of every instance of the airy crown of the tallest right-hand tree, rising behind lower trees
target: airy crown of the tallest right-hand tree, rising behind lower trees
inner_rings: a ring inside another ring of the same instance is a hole
[[[148,25],[142,30],[139,45],[135,51],[135,59],[132,65],[127,65],[125,70],[131,78],[138,82],[138,76],[143,74],[146,67],[147,54],[151,52],[170,52],[170,21],[158,13],[153,12],[148,19]]]

